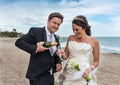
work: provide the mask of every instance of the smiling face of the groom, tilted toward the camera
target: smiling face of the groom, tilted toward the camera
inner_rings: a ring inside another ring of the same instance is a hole
[[[61,19],[54,17],[51,20],[48,20],[48,30],[50,33],[56,32],[61,25]]]

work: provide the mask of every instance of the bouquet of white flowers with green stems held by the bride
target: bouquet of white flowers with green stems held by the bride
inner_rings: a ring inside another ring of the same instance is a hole
[[[83,71],[83,69],[80,69],[80,66],[75,59],[70,59],[68,62],[68,66],[70,68],[74,68],[77,71],[81,71],[81,72]],[[85,68],[84,68],[84,70],[85,70]],[[83,75],[83,72],[82,72],[82,75]],[[81,75],[81,73],[79,73],[79,74]],[[78,75],[76,74],[75,76],[78,76]],[[91,78],[89,76],[87,76],[85,79],[87,82],[89,82],[91,80]]]

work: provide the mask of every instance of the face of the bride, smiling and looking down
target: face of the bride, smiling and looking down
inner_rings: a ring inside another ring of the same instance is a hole
[[[76,24],[72,24],[72,29],[73,29],[73,32],[75,33],[77,38],[80,38],[82,36],[83,29],[81,26],[78,26]]]

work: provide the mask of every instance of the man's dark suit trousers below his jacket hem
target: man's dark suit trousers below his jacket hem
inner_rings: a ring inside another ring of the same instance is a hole
[[[54,76],[48,72],[38,76],[35,80],[30,80],[30,85],[54,85]]]

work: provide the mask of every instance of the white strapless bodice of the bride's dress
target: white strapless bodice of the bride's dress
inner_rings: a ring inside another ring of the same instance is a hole
[[[79,63],[90,63],[93,48],[90,44],[69,41],[69,59],[76,59]]]

